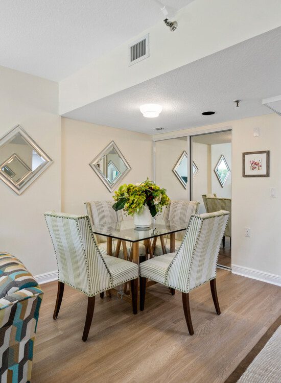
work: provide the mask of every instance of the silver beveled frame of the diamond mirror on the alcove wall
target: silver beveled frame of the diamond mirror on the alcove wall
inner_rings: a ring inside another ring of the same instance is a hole
[[[104,174],[102,173],[102,171],[99,169],[99,167],[95,166],[95,164],[97,162],[100,161],[100,159],[106,155],[109,151],[109,149],[114,149],[115,152],[119,155],[119,157],[122,159],[122,161],[124,162],[124,164],[127,166],[127,169],[125,170],[124,173],[120,173],[120,176],[116,177],[116,181],[111,184],[107,178],[104,176]],[[126,174],[131,170],[131,166],[129,165],[129,163],[126,161],[125,157],[123,156],[123,154],[121,153],[121,151],[119,150],[118,146],[115,144],[114,141],[111,141],[109,142],[109,144],[89,163],[90,167],[92,168],[92,170],[97,174],[97,176],[100,178],[100,180],[104,183],[104,185],[108,188],[109,192],[113,192],[113,190],[115,189],[115,187],[117,185],[119,185],[119,183],[121,182],[121,180],[126,176]]]

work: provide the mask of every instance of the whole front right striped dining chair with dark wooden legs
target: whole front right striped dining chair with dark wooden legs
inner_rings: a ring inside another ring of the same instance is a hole
[[[220,306],[216,289],[216,270],[222,236],[229,218],[228,211],[192,214],[177,253],[160,255],[139,265],[140,310],[145,307],[147,278],[182,293],[182,304],[189,333],[194,334],[189,293],[210,281],[216,312]]]

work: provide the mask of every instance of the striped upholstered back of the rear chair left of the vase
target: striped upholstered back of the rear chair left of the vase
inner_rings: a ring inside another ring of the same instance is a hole
[[[85,202],[91,225],[123,221],[123,210],[115,211],[112,208],[113,203],[113,201]],[[104,235],[95,234],[95,237],[98,244],[106,242],[106,236]]]

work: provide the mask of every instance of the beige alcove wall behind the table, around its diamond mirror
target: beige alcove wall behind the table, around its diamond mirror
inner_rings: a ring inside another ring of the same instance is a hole
[[[152,179],[151,136],[62,118],[62,211],[85,213],[84,202],[112,198],[88,165],[112,140],[132,168],[119,185]]]

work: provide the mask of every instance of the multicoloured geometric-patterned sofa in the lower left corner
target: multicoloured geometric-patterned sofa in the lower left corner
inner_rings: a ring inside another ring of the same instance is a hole
[[[31,378],[33,345],[43,292],[13,255],[0,252],[0,382]]]

